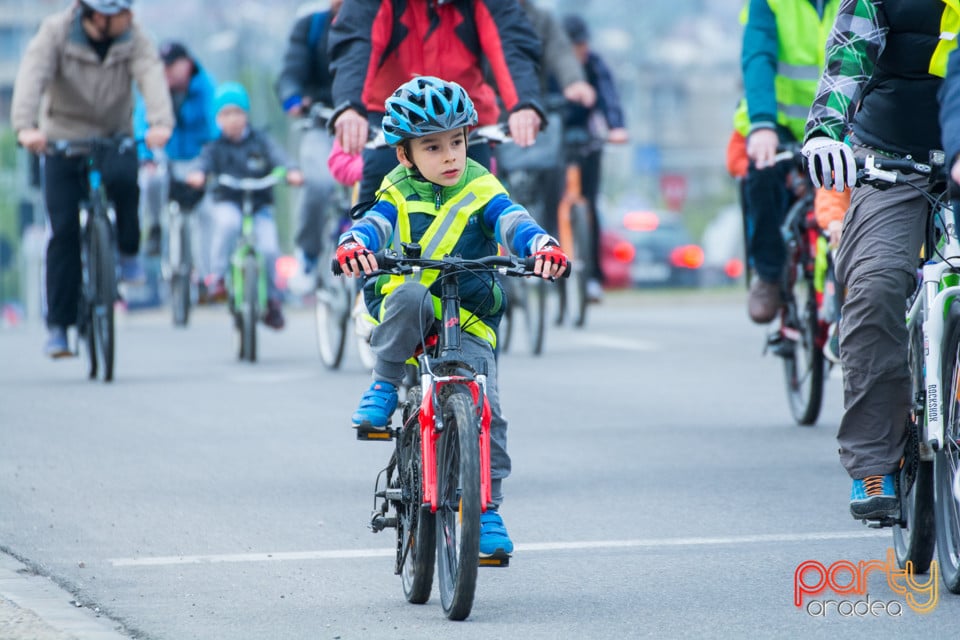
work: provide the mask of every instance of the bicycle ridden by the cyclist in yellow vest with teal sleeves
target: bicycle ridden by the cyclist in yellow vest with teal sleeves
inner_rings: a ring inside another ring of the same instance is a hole
[[[820,415],[824,377],[832,366],[823,355],[830,326],[824,313],[824,291],[836,291],[837,286],[826,238],[814,215],[814,188],[803,168],[800,147],[786,147],[775,160],[794,164],[788,181],[796,199],[780,228],[786,249],[780,280],[781,307],[765,350],[783,360],[793,419],[810,426]]]

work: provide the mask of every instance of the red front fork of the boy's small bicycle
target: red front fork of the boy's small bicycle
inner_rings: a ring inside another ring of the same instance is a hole
[[[430,512],[437,512],[437,442],[443,432],[443,416],[437,416],[440,389],[449,384],[462,385],[470,390],[473,406],[480,417],[480,510],[485,512],[492,501],[490,478],[490,401],[473,378],[450,376],[431,379],[423,385],[423,400],[420,402],[420,446],[423,458],[423,504],[430,505]]]

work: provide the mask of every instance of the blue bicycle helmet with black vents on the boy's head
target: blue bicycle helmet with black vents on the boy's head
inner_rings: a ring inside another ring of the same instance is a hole
[[[418,76],[403,83],[384,107],[383,136],[394,146],[477,123],[477,110],[463,87],[433,76]]]

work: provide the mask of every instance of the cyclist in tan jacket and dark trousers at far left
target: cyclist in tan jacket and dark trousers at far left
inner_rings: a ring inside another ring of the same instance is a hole
[[[143,94],[146,144],[160,148],[173,128],[170,93],[156,46],[133,21],[133,0],[82,0],[45,19],[20,63],[11,120],[17,141],[42,153],[50,140],[131,135],[133,84]],[[67,327],[76,323],[80,290],[80,224],[86,193],[81,160],[43,158],[43,191],[51,236],[46,257],[45,353],[71,355]],[[139,280],[137,150],[102,159],[103,181],[116,207],[121,278]]]

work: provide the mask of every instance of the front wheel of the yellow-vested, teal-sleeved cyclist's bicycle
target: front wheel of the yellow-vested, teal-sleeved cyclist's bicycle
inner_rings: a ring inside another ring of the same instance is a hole
[[[817,346],[820,320],[816,290],[801,263],[788,264],[786,277],[791,295],[786,303],[785,322],[796,332],[797,340],[791,352],[783,356],[784,382],[793,419],[798,425],[812,426],[820,416],[823,403],[825,369],[823,350]]]

